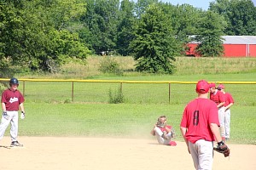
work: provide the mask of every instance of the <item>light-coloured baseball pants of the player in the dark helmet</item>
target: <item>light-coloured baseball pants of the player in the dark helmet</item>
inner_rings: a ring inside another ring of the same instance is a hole
[[[9,115],[9,119],[5,119],[2,116],[1,124],[0,124],[0,139],[3,139],[3,135],[5,133],[6,128],[9,126],[9,123],[11,124],[10,127],[10,136],[11,141],[17,141],[18,136],[18,111],[7,111],[7,114]]]

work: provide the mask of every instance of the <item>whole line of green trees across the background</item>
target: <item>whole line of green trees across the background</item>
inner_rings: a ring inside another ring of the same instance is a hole
[[[221,36],[256,35],[256,8],[251,0],[215,0],[207,11],[158,0],[2,0],[0,71],[55,72],[89,54],[119,54],[132,55],[137,71],[172,74],[192,35],[201,56],[219,56]]]

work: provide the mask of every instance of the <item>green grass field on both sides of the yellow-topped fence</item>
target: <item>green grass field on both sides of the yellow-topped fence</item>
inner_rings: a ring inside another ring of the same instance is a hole
[[[126,58],[125,58],[126,59]],[[90,60],[90,59],[89,59]],[[92,58],[93,64],[97,63]],[[129,59],[128,59],[129,60]],[[213,62],[205,59],[205,62]],[[182,71],[188,65],[187,58],[172,75],[148,75],[136,72],[123,77],[98,73],[96,66],[89,64],[68,72],[75,65],[65,65],[66,73],[58,75],[17,75],[18,78],[78,78],[132,81],[193,81],[206,79],[209,82],[254,82],[256,59],[230,59],[228,71],[197,71],[199,65],[189,65],[190,71]],[[128,62],[128,61],[126,61]],[[198,62],[192,59],[191,62]],[[203,62],[201,59],[200,62]],[[227,59],[219,59],[218,65],[228,65]],[[215,63],[215,62],[213,62]],[[131,63],[127,64],[132,67]],[[213,65],[213,64],[212,64]],[[217,65],[217,64],[216,64]],[[237,66],[236,66],[237,65]],[[242,65],[246,66],[244,68]],[[253,65],[253,68],[247,68]],[[235,67],[237,67],[235,69]],[[68,69],[67,69],[68,68]],[[234,70],[232,70],[232,68]],[[128,68],[127,68],[128,69]],[[238,69],[238,71],[237,71]],[[132,70],[132,68],[131,68]],[[181,71],[178,71],[181,70]],[[79,72],[81,71],[81,72]],[[84,71],[87,71],[84,74]],[[195,71],[195,74],[191,74]],[[77,76],[74,76],[77,75]],[[81,77],[82,76],[82,77]],[[23,136],[90,136],[118,138],[152,138],[151,128],[160,115],[168,116],[168,122],[177,131],[177,140],[183,140],[179,123],[185,105],[196,97],[195,84],[171,84],[171,101],[168,102],[168,84],[123,83],[124,104],[108,104],[109,90],[119,88],[119,83],[75,82],[74,102],[71,102],[72,82],[26,82],[26,119],[20,120],[20,135]],[[20,83],[20,91],[23,84]],[[230,143],[256,144],[256,84],[226,84],[235,105],[231,108]],[[6,133],[6,135],[9,135]]]

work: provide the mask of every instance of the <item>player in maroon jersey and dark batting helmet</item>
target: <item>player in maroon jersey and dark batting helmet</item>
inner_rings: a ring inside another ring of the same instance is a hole
[[[10,136],[11,144],[10,146],[23,146],[17,140],[18,137],[18,111],[21,110],[20,118],[25,118],[25,111],[23,102],[25,101],[22,94],[18,90],[19,81],[16,78],[11,78],[9,80],[9,88],[3,91],[2,94],[2,109],[3,116],[0,124],[0,139],[3,139],[6,128],[11,124]]]

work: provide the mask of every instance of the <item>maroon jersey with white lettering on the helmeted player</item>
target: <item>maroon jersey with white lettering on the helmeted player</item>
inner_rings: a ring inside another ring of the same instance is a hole
[[[1,103],[5,103],[6,111],[19,111],[19,106],[24,101],[25,99],[19,90],[6,89],[3,91]]]

